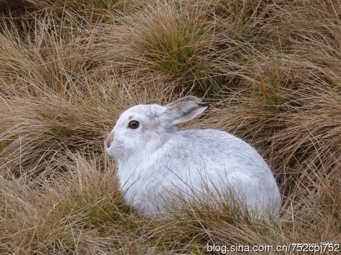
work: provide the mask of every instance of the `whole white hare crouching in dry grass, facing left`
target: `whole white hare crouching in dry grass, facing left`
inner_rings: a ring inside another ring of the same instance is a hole
[[[166,106],[137,105],[123,112],[105,141],[118,161],[118,176],[133,207],[150,215],[176,198],[226,190],[257,214],[277,213],[281,197],[276,181],[256,149],[215,129],[177,131],[209,105],[187,96]],[[199,195],[200,196],[200,195]]]

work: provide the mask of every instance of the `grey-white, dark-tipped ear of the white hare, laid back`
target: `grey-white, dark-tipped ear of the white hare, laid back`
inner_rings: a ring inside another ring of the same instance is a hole
[[[177,125],[194,119],[205,110],[209,109],[210,106],[201,98],[187,96],[180,98],[165,107],[165,116],[167,120],[171,124]]]

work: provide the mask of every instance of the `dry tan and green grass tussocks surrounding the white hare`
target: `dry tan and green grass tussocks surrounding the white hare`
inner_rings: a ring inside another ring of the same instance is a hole
[[[1,254],[341,243],[339,0],[0,8]],[[197,201],[151,221],[124,202],[104,137],[123,109],[186,94],[213,108],[181,128],[231,132],[268,159],[283,193],[279,219]]]

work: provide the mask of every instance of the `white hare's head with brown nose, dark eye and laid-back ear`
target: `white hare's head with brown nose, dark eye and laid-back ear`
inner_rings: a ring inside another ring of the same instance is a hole
[[[149,154],[162,146],[175,132],[176,125],[203,113],[209,105],[187,96],[166,106],[137,105],[123,112],[105,141],[108,154],[117,159]]]

